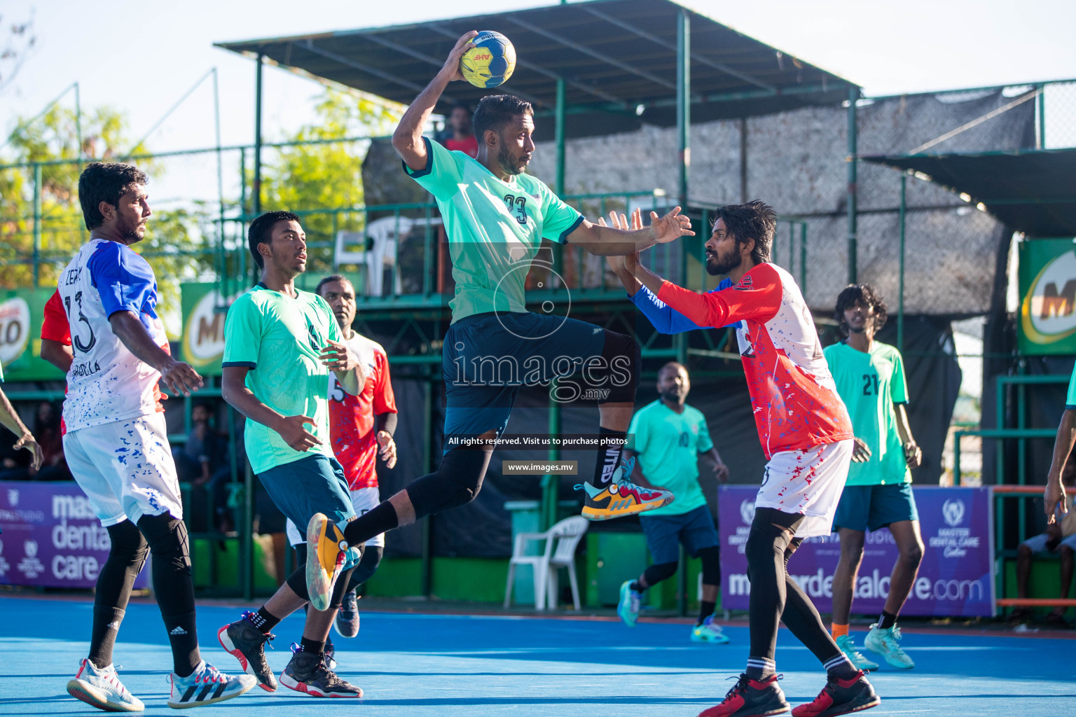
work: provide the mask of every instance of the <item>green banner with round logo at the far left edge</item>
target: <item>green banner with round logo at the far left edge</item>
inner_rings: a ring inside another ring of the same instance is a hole
[[[0,364],[8,383],[62,381],[63,374],[41,358],[41,321],[56,287],[0,290]]]

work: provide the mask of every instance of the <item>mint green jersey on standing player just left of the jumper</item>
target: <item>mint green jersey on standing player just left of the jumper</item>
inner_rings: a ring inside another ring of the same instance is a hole
[[[332,456],[329,441],[328,369],[317,358],[327,340],[343,341],[332,311],[316,293],[296,289],[295,298],[261,284],[236,299],[224,322],[224,367],[246,367],[246,387],[283,416],[309,416],[307,430],[321,445],[307,453],[284,443],[280,433],[246,420],[243,438],[255,473],[309,456]]]

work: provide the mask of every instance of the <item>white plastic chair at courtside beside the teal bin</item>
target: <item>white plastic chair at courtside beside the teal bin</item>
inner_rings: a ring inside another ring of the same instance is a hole
[[[577,515],[565,518],[543,533],[516,533],[512,559],[508,563],[505,608],[507,610],[512,604],[512,580],[515,577],[515,567],[530,565],[535,571],[535,610],[546,610],[547,604],[551,608],[556,608],[561,568],[568,569],[568,579],[571,582],[571,602],[577,611],[581,610],[579,582],[576,577],[576,547],[583,539],[589,526],[590,521],[586,518]],[[526,555],[527,542],[529,541],[546,541],[544,551],[541,555]]]

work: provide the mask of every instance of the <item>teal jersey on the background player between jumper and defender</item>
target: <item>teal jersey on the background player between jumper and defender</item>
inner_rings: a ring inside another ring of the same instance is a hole
[[[689,405],[677,413],[661,400],[632,416],[627,448],[639,455],[639,468],[647,482],[671,490],[676,500],[647,515],[683,515],[700,505],[706,497],[698,485],[698,454],[713,447],[706,418]]]

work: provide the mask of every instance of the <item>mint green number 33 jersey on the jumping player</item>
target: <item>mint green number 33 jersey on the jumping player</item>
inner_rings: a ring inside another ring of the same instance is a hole
[[[563,244],[583,217],[533,176],[502,182],[464,153],[423,141],[426,169],[404,169],[434,195],[444,219],[456,283],[452,321],[525,312],[523,281],[542,238]]]

